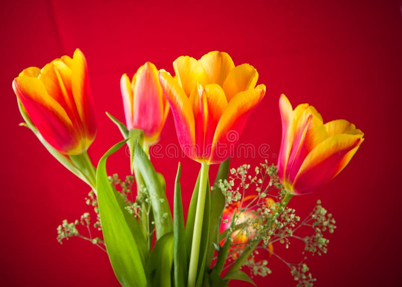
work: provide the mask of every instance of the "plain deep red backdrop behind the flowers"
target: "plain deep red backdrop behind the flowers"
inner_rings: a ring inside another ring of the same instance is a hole
[[[301,215],[320,198],[337,219],[329,252],[308,261],[317,286],[396,285],[400,278],[401,5],[395,1],[26,1],[0,7],[2,69],[1,284],[5,286],[117,286],[108,257],[90,243],[60,245],[56,227],[87,211],[88,188],[57,163],[31,131],[19,127],[11,82],[28,66],[42,67],[75,48],[85,54],[95,99],[98,133],[94,162],[121,135],[105,115],[124,119],[119,80],[145,61],[173,72],[180,55],[228,52],[235,64],[259,72],[267,94],[250,116],[240,142],[268,144],[275,162],[281,126],[277,102],[309,102],[324,120],[345,118],[366,140],[349,166],[324,189],[296,197]],[[162,146],[177,144],[169,115]],[[198,164],[180,159],[184,204]],[[262,160],[235,158],[232,166]],[[155,159],[169,200],[177,159]],[[211,171],[211,176],[213,177]],[[109,172],[129,173],[123,152]],[[300,249],[287,253],[290,261]],[[294,285],[276,259],[259,285]],[[236,284],[233,284],[236,285]],[[238,284],[240,286],[240,284]]]

